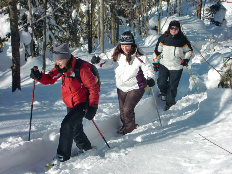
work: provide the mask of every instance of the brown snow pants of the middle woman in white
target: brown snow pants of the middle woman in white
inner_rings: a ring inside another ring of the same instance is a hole
[[[117,89],[120,118],[123,123],[124,133],[130,133],[135,129],[135,106],[143,97],[144,89],[134,89],[129,92],[123,92]]]

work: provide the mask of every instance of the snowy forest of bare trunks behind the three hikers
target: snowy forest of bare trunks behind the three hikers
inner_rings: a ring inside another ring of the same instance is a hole
[[[205,10],[207,3],[212,4],[212,1],[1,0],[0,14],[9,14],[11,27],[11,32],[1,36],[1,40],[4,42],[11,37],[12,91],[21,89],[20,44],[25,49],[25,60],[42,55],[42,71],[45,72],[46,54],[52,51],[55,43],[66,42],[72,48],[83,47],[89,53],[100,45],[103,53],[106,42],[117,44],[122,25],[145,38],[149,34],[149,20],[154,16],[157,23],[152,27],[158,34],[162,30],[160,19],[174,14],[197,16],[212,22],[216,12],[211,7]],[[185,14],[183,6],[187,7]],[[31,35],[31,42],[20,41],[20,34],[25,33]]]

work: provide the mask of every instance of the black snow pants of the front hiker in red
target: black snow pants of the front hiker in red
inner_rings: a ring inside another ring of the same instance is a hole
[[[80,149],[91,149],[91,143],[83,130],[83,117],[86,103],[80,103],[73,108],[67,108],[67,115],[63,119],[60,128],[60,139],[57,154],[62,155],[64,161],[71,156],[73,140]]]

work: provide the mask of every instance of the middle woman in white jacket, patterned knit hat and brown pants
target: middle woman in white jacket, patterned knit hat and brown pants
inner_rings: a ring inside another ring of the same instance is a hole
[[[93,56],[91,62],[102,68],[113,65],[119,100],[120,118],[123,123],[118,131],[127,134],[136,128],[134,109],[144,94],[146,86],[155,85],[153,65],[135,44],[130,31],[124,32],[119,44],[102,58]]]

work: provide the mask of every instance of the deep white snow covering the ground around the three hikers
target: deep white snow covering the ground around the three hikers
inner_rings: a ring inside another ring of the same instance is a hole
[[[117,135],[120,120],[114,71],[113,68],[99,69],[102,85],[99,109],[94,120],[111,148],[106,146],[93,123],[84,120],[85,132],[98,150],[73,157],[59,168],[48,171],[44,166],[56,154],[60,123],[66,114],[60,94],[61,81],[49,86],[36,83],[31,141],[27,141],[33,84],[29,74],[34,65],[42,69],[42,58],[29,58],[25,62],[21,49],[22,90],[12,93],[9,68],[11,47],[10,42],[5,43],[4,51],[0,53],[0,173],[232,173],[232,91],[217,88],[220,75],[204,62],[196,50],[218,70],[223,66],[223,58],[231,57],[232,20],[229,16],[232,4],[223,5],[227,8],[227,23],[220,27],[206,26],[191,16],[172,16],[166,23],[165,27],[173,19],[183,23],[183,30],[194,46],[188,69],[198,88],[185,68],[176,105],[163,112],[163,103],[156,98],[163,126],[158,120],[154,98],[146,91],[136,107],[136,122],[140,127],[128,135]],[[162,22],[165,23],[165,20]],[[145,40],[136,36],[136,43],[151,61],[157,39],[155,35]],[[110,48],[106,47],[108,50]],[[91,55],[81,49],[72,53],[85,60],[100,54],[99,49]],[[47,57],[46,62],[49,71],[54,61],[52,57]],[[157,86],[153,91],[157,94]]]

